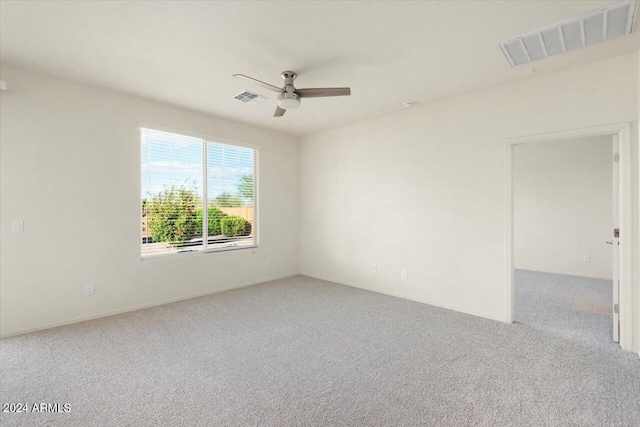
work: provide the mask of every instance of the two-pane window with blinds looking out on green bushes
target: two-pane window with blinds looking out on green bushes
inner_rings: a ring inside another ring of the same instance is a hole
[[[142,257],[255,247],[254,149],[141,129]]]

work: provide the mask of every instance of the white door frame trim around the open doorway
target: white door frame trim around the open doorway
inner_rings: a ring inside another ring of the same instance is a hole
[[[506,321],[513,323],[515,308],[515,269],[514,269],[514,195],[513,195],[513,152],[520,144],[553,142],[566,139],[584,138],[598,135],[617,135],[619,153],[618,187],[618,224],[620,228],[620,347],[632,350],[633,345],[633,189],[632,189],[632,142],[631,122],[612,123],[579,129],[563,130],[536,135],[509,138],[506,141],[507,156],[507,229],[506,229]],[[613,161],[613,159],[612,159]],[[613,230],[611,230],[613,233]],[[612,236],[613,237],[613,234]]]

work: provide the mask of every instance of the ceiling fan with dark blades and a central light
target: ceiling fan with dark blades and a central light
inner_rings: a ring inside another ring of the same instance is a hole
[[[351,89],[348,87],[324,87],[324,88],[312,88],[312,89],[296,89],[293,86],[293,81],[298,77],[293,71],[283,71],[280,77],[284,80],[283,87],[277,87],[269,83],[265,83],[261,80],[254,79],[253,77],[245,76],[244,74],[234,74],[234,77],[248,80],[264,88],[278,92],[278,106],[273,117],[282,117],[287,110],[293,110],[300,107],[300,98],[320,98],[323,96],[349,96],[351,95]]]

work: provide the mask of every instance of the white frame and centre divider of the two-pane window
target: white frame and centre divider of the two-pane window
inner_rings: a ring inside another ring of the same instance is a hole
[[[160,255],[153,255],[153,256],[143,256],[142,255],[142,248],[144,243],[142,243],[142,238],[144,237],[142,234],[142,227],[139,227],[140,229],[140,236],[138,238],[138,243],[140,245],[140,261],[154,261],[154,260],[158,260],[158,259],[166,259],[166,258],[182,258],[182,257],[189,257],[189,256],[193,256],[193,255],[204,255],[204,254],[210,254],[210,253],[216,253],[216,252],[230,252],[230,251],[239,251],[239,250],[244,250],[244,249],[251,249],[251,252],[254,252],[256,250],[256,248],[258,248],[258,246],[260,245],[260,224],[259,224],[259,217],[260,217],[260,203],[259,203],[259,188],[260,188],[260,146],[256,145],[256,144],[252,144],[252,143],[248,143],[248,142],[244,142],[244,141],[237,141],[237,140],[233,140],[233,139],[229,139],[229,138],[225,138],[225,137],[219,137],[219,136],[213,136],[210,134],[204,134],[204,133],[200,133],[200,132],[191,132],[191,131],[185,131],[183,129],[176,129],[176,128],[171,128],[171,127],[167,127],[167,126],[162,126],[162,125],[156,125],[156,124],[151,124],[151,123],[144,123],[144,122],[139,122],[138,123],[138,197],[140,197],[142,195],[142,131],[144,129],[147,130],[151,130],[151,131],[158,131],[158,132],[167,132],[167,133],[174,133],[180,136],[185,136],[185,137],[190,137],[190,138],[198,138],[198,139],[202,139],[203,141],[203,153],[206,153],[204,145],[208,142],[211,143],[217,143],[217,144],[224,144],[224,145],[231,145],[231,146],[235,146],[235,147],[242,147],[242,148],[248,148],[254,151],[254,176],[253,176],[253,234],[254,234],[254,244],[252,245],[243,245],[243,246],[237,246],[237,245],[228,245],[228,246],[221,246],[221,247],[209,247],[207,246],[206,249],[202,249],[202,250],[198,250],[198,251],[189,251],[189,252],[178,252],[178,253],[169,253],[169,254],[160,254]],[[208,210],[205,208],[205,204],[206,204],[206,200],[208,200],[208,196],[204,196],[205,195],[205,191],[207,191],[207,172],[208,169],[206,167],[206,163],[207,163],[207,159],[205,156],[203,156],[202,159],[202,166],[203,166],[203,236],[204,236],[204,230],[207,224],[207,214],[206,212],[208,212]],[[140,207],[138,207],[138,217],[137,217],[137,223],[140,224],[140,220],[141,220],[141,214],[140,214]],[[208,238],[208,236],[207,236]],[[204,240],[204,239],[203,239]],[[204,242],[203,242],[204,243]]]

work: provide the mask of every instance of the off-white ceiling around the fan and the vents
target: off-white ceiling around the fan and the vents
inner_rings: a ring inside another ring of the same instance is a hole
[[[498,43],[608,1],[1,1],[0,59],[295,135],[637,51],[638,31],[511,68]],[[273,118],[277,86],[350,86]],[[9,82],[10,85],[10,82]],[[233,99],[248,89],[258,105]]]

